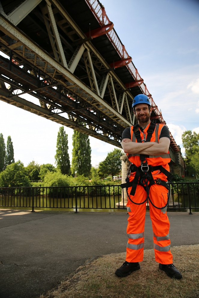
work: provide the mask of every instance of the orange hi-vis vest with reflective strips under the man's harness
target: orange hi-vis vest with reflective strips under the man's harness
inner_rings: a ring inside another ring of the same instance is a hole
[[[149,128],[150,123],[145,127],[145,129],[143,130],[143,132],[140,130],[140,137],[142,141],[146,141],[147,138],[147,130]],[[152,137],[150,142],[156,142],[159,143],[159,137],[160,137],[160,133],[162,130],[162,127],[164,126],[164,124],[156,124],[155,126],[155,130],[152,133]],[[136,136],[133,132],[133,126],[131,126],[131,140],[132,142],[136,142],[137,143],[137,139]],[[134,165],[136,165],[137,167],[139,167],[142,162],[140,160],[140,154],[128,154],[128,160],[133,163]],[[170,162],[170,154],[169,151],[166,154],[161,154],[161,155],[149,155],[146,157],[146,162],[148,163],[148,165],[152,165],[152,166],[156,166],[156,165],[162,165],[164,168],[166,168],[167,170],[169,169],[169,167],[167,166],[168,163]]]

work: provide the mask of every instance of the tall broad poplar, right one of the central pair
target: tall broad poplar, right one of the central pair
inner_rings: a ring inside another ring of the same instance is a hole
[[[74,130],[72,150],[72,175],[89,177],[91,171],[91,147],[89,136]]]

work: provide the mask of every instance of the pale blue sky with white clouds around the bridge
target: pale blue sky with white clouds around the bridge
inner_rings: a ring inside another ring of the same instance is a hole
[[[101,0],[101,4],[184,155],[182,133],[199,133],[199,1]],[[0,133],[5,143],[11,136],[15,161],[25,166],[32,160],[55,165],[61,125],[1,100],[0,111]],[[73,130],[65,127],[65,132],[71,160]],[[116,147],[89,138],[96,166]]]

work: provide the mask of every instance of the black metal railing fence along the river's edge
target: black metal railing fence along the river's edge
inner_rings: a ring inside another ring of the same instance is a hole
[[[78,211],[126,210],[122,200],[125,189],[120,185],[62,187],[1,187],[0,207],[26,208],[32,211],[48,208]],[[122,202],[122,203],[121,203]],[[168,210],[199,211],[199,182],[171,185]],[[146,204],[146,209],[149,205]]]

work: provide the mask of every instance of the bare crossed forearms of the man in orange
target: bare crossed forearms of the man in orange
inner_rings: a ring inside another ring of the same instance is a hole
[[[155,142],[135,143],[135,142],[132,142],[131,139],[123,139],[121,145],[125,153],[160,155],[160,154],[166,154],[168,152],[170,139],[163,137],[159,140],[159,143],[155,143]]]

